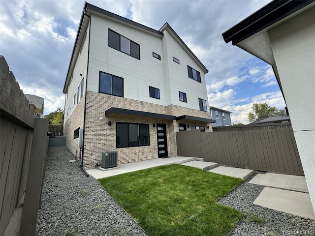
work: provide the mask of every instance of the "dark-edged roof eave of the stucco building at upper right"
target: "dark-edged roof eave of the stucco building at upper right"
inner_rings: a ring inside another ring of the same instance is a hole
[[[283,93],[278,69],[271,48],[268,30],[315,6],[313,0],[273,0],[252,15],[222,33],[226,43],[243,49],[270,64]],[[285,101],[285,98],[284,98]]]

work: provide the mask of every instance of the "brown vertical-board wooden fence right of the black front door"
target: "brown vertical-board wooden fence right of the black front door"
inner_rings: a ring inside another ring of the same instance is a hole
[[[179,156],[203,157],[204,161],[304,176],[300,156],[289,128],[230,132],[176,133]]]

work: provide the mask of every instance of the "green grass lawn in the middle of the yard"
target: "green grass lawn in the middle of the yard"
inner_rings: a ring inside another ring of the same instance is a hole
[[[243,181],[183,165],[99,179],[148,236],[226,236],[242,213],[216,203]]]

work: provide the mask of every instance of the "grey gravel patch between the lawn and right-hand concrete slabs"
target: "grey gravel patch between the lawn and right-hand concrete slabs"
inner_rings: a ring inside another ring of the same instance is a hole
[[[264,188],[249,183],[255,175],[218,201],[245,213],[230,236],[315,236],[315,220],[252,204]]]

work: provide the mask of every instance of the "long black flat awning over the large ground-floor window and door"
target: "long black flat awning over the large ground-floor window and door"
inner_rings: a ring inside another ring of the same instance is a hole
[[[152,112],[141,112],[136,110],[128,110],[123,108],[111,107],[105,111],[106,117],[129,117],[129,118],[149,118],[149,119],[162,119],[162,120],[174,120],[175,116],[152,113]]]

